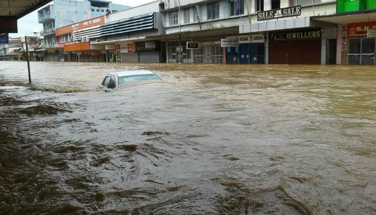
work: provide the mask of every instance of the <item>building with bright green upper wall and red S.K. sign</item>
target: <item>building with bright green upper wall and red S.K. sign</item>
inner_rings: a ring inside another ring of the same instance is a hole
[[[337,0],[337,14],[314,20],[338,24],[337,64],[375,65],[375,0]]]

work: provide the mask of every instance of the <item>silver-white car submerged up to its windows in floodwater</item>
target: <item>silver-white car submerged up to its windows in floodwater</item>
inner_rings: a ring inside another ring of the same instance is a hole
[[[149,70],[129,70],[108,73],[105,79],[103,79],[102,85],[107,88],[107,92],[111,91],[110,89],[114,89],[115,87],[122,84],[152,80],[161,81],[162,78],[159,77],[155,72]]]

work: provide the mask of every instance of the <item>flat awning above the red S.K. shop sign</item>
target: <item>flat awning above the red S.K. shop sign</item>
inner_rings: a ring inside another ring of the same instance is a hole
[[[376,10],[356,11],[339,13],[334,15],[324,15],[311,17],[312,20],[324,21],[329,23],[361,23],[376,20]]]

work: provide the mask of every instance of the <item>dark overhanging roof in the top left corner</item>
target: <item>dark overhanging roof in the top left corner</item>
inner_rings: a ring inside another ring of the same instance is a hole
[[[0,16],[17,17],[17,19],[35,11],[52,0],[11,0],[0,1]]]

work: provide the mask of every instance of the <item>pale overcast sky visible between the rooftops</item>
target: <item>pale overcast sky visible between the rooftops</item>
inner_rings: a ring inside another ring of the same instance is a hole
[[[143,5],[149,2],[154,2],[155,0],[109,0],[112,3],[119,4],[119,5],[127,5],[131,7],[135,7],[138,5]],[[40,9],[40,8],[38,8]],[[39,32],[43,30],[43,25],[38,23],[38,9],[31,12],[30,14],[20,18],[17,21],[18,24],[18,33],[17,34],[9,34],[9,37],[22,37],[26,34],[31,32]]]

